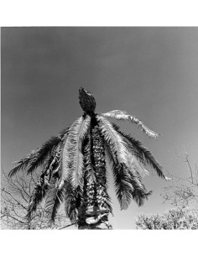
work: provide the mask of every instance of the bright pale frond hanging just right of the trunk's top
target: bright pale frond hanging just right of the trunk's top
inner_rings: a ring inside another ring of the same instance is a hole
[[[106,118],[96,117],[100,132],[103,138],[109,145],[112,153],[117,155],[118,163],[128,165],[128,149],[126,142],[122,139],[119,133],[112,127],[112,123]]]

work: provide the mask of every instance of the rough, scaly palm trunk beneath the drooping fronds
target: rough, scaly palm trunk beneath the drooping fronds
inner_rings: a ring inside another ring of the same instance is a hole
[[[109,196],[104,141],[95,124],[86,144],[83,202],[78,213],[79,229],[112,229],[108,222]]]

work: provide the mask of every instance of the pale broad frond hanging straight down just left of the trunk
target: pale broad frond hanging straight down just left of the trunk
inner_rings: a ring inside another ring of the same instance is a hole
[[[83,171],[83,154],[81,152],[82,142],[89,128],[91,117],[86,116],[78,118],[68,131],[68,137],[65,140],[63,149],[63,170],[62,180],[67,180],[69,174],[72,177],[74,186],[81,183]]]

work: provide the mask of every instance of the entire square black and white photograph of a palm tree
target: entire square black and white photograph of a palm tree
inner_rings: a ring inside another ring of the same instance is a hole
[[[198,28],[1,29],[1,228],[198,229]]]

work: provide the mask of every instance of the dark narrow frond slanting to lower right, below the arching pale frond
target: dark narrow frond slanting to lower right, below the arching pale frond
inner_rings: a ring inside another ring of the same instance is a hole
[[[120,131],[118,126],[113,123],[113,128],[119,133],[125,142],[128,144],[128,149],[134,157],[138,160],[138,162],[144,166],[149,165],[154,170],[156,170],[159,177],[166,179],[163,171],[163,167],[159,165],[159,162],[154,158],[153,154],[143,147],[143,145],[135,138],[133,138],[130,134],[125,134]]]

